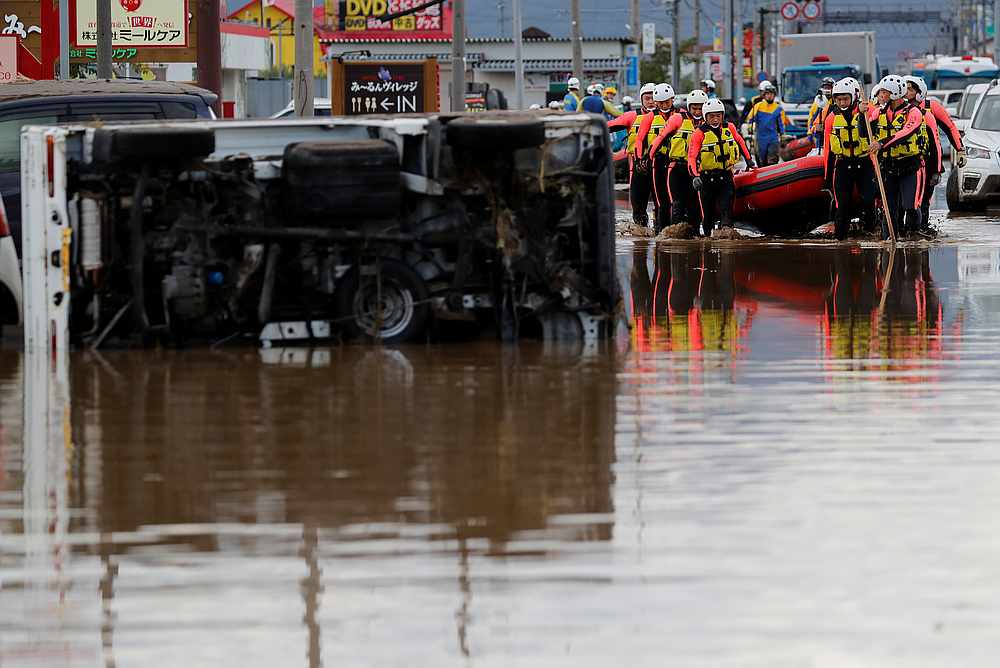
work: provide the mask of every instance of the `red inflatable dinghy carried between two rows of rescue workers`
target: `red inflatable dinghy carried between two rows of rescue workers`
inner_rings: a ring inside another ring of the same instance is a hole
[[[733,214],[737,219],[809,200],[830,201],[823,190],[823,156],[813,155],[761,167],[736,175],[736,200]]]

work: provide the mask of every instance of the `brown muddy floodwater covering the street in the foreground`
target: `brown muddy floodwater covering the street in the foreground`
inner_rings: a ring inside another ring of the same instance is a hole
[[[992,666],[1000,220],[623,239],[632,327],[0,350],[0,666]],[[58,418],[57,418],[58,419]]]

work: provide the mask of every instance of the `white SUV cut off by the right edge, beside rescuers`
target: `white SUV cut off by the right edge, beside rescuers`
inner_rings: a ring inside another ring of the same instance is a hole
[[[971,88],[971,86],[970,86]],[[965,129],[965,162],[948,174],[945,191],[951,211],[985,209],[1000,202],[1000,86],[988,84]]]

